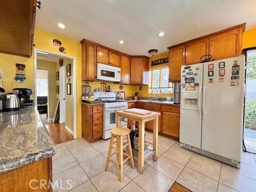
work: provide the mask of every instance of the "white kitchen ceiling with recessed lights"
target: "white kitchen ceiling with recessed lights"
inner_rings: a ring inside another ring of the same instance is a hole
[[[41,0],[36,27],[77,41],[86,38],[131,55],[246,22],[256,27],[255,0]],[[57,26],[65,24],[65,29]],[[158,37],[164,31],[163,37]],[[119,44],[122,39],[124,44]]]

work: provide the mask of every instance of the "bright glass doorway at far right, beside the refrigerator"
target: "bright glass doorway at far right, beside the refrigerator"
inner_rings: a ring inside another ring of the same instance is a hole
[[[244,148],[256,154],[256,47],[246,51]]]

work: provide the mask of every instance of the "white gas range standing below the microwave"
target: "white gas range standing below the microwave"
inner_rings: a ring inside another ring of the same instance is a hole
[[[128,109],[128,103],[116,100],[115,92],[94,92],[94,97],[97,97],[104,102],[102,139],[109,139],[111,137],[111,129],[116,127],[115,111]],[[123,118],[123,121],[121,121],[121,127],[125,126],[127,126],[127,119]]]

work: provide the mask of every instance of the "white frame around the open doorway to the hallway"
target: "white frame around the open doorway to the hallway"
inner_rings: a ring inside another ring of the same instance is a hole
[[[53,55],[57,55],[59,57],[62,58],[67,58],[67,59],[71,59],[73,60],[73,86],[71,89],[71,94],[73,97],[73,116],[74,116],[74,122],[73,122],[73,127],[74,127],[74,134],[73,137],[74,139],[76,139],[76,57],[70,56],[70,55],[66,55],[66,54],[61,54],[61,53],[55,53],[52,51],[46,51],[46,50],[42,50],[42,49],[34,49],[34,75],[35,75],[35,79],[34,79],[34,93],[35,93],[35,106],[37,106],[37,99],[36,99],[36,70],[37,70],[37,52],[45,52],[48,54],[53,54]],[[36,107],[37,108],[37,107]]]

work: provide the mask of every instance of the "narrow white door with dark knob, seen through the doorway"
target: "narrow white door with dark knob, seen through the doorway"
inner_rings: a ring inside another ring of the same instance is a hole
[[[66,101],[64,101],[65,93],[66,93],[66,87],[65,87],[65,66],[60,68],[60,123],[66,122]]]

